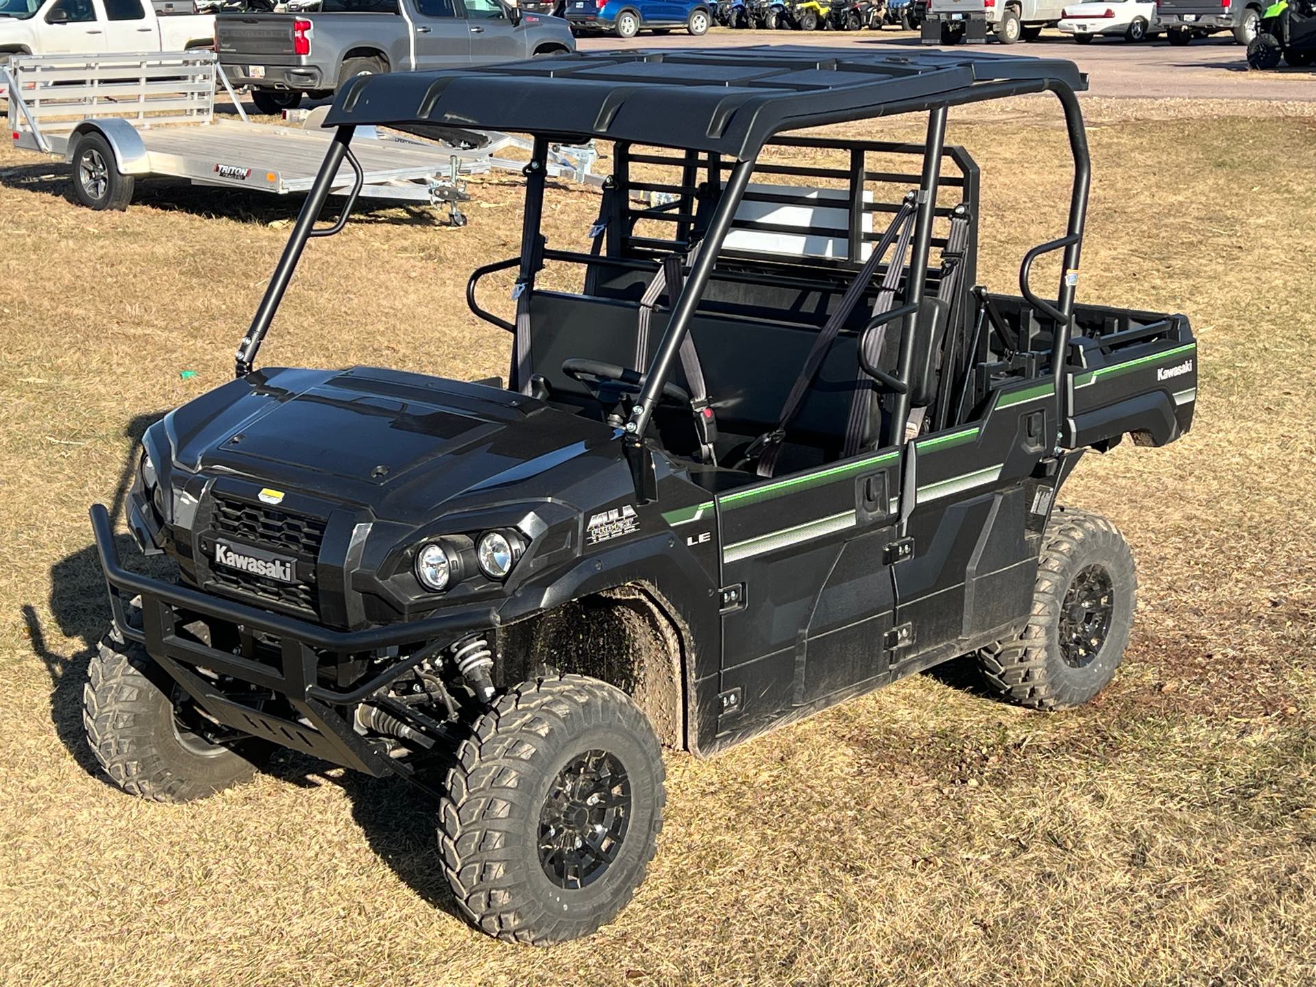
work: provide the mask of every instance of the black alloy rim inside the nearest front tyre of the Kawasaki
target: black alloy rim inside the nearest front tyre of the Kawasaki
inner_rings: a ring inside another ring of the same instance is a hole
[[[553,779],[540,811],[540,866],[562,888],[597,880],[630,824],[630,780],[616,757],[587,750]]]

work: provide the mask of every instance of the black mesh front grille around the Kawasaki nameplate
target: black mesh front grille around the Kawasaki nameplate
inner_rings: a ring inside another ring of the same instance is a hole
[[[297,559],[297,571],[301,574],[301,582],[283,583],[268,576],[211,563],[209,576],[215,588],[237,591],[312,617],[318,616],[320,607],[313,567],[320,558],[320,544],[325,537],[324,521],[265,504],[251,504],[216,495],[211,513],[211,530],[215,536],[230,537],[240,544],[293,555]]]

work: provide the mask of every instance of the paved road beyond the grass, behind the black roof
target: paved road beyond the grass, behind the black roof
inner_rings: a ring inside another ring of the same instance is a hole
[[[917,37],[908,32],[758,32],[715,28],[701,38],[684,33],[665,37],[641,34],[634,41],[617,38],[582,38],[583,49],[604,47],[722,47],[729,45],[824,45],[824,46],[915,46]],[[1048,32],[1030,45],[1007,49],[996,42],[990,51],[1011,51],[1044,58],[1069,58],[1088,74],[1092,96],[1125,96],[1142,99],[1258,99],[1316,100],[1316,71],[1311,68],[1250,72],[1244,49],[1229,36],[1215,36],[1184,47],[1171,47],[1165,41],[1128,45],[1123,41],[1099,39],[1086,47]],[[967,49],[966,49],[967,50]]]

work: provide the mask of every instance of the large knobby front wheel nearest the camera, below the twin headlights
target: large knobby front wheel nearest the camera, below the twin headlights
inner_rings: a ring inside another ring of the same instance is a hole
[[[500,940],[588,936],[630,901],[662,829],[647,717],[583,675],[528,682],[476,720],[440,805],[457,903]]]

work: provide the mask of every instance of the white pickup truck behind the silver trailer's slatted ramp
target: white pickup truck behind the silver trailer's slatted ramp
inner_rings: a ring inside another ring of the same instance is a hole
[[[0,61],[9,55],[136,54],[213,45],[213,14],[162,17],[151,0],[0,0]]]

